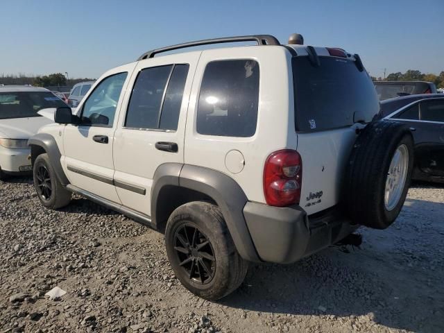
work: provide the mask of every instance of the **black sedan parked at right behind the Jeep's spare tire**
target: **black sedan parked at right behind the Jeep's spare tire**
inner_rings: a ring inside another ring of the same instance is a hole
[[[387,99],[381,105],[385,119],[405,123],[413,131],[415,164],[412,178],[444,182],[443,95]]]

